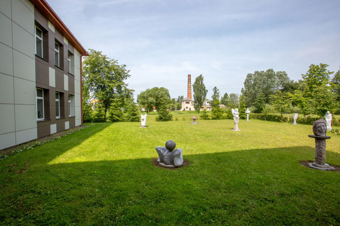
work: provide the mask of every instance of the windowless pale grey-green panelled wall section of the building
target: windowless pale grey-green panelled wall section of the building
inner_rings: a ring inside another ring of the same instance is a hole
[[[0,149],[37,138],[34,6],[0,1]]]

